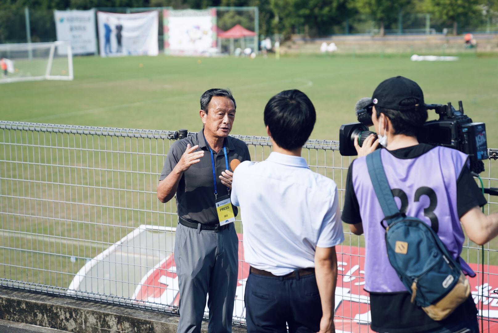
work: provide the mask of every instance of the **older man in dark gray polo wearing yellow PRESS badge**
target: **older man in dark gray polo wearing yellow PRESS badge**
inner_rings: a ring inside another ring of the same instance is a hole
[[[175,264],[180,289],[178,333],[201,332],[209,293],[209,332],[232,332],[239,243],[230,203],[233,160],[249,161],[249,149],[229,137],[235,99],[228,89],[201,96],[204,128],[171,145],[157,186],[167,202],[176,193],[179,216]]]

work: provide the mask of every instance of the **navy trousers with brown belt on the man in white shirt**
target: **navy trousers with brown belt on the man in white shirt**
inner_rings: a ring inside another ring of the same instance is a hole
[[[322,306],[315,274],[282,279],[249,274],[246,283],[248,333],[316,333]]]

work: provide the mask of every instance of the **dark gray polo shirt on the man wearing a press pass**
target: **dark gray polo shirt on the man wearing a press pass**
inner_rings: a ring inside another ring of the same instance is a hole
[[[201,162],[190,166],[183,173],[178,184],[178,189],[176,190],[176,208],[178,215],[187,221],[216,224],[219,223],[219,220],[215,208],[213,167],[211,164],[211,153],[202,134],[203,130],[185,139],[178,140],[171,145],[159,180],[166,178],[173,170],[178,161],[180,161],[183,153],[185,153],[187,144],[190,144],[192,147],[199,145],[197,151],[203,150],[204,156],[201,158]],[[229,136],[225,139],[225,146],[227,147],[229,168],[232,160],[237,159],[241,162],[250,161],[249,149],[244,141]],[[215,154],[215,152],[213,154],[218,198],[220,198],[228,194],[227,187],[221,183],[219,178],[222,171],[226,169],[225,154],[223,153],[223,149],[220,149],[218,154]],[[237,216],[237,207],[234,206],[234,209],[235,216]]]

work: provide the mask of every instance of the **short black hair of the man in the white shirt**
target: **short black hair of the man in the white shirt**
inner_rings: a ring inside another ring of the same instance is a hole
[[[315,126],[313,103],[303,92],[284,90],[273,96],[264,107],[264,125],[275,143],[285,150],[302,147]]]

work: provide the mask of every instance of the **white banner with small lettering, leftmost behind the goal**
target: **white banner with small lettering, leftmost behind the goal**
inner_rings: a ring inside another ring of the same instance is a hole
[[[71,44],[73,54],[95,54],[95,11],[90,10],[54,10],[57,40]],[[67,54],[64,47],[57,48],[59,54]]]

